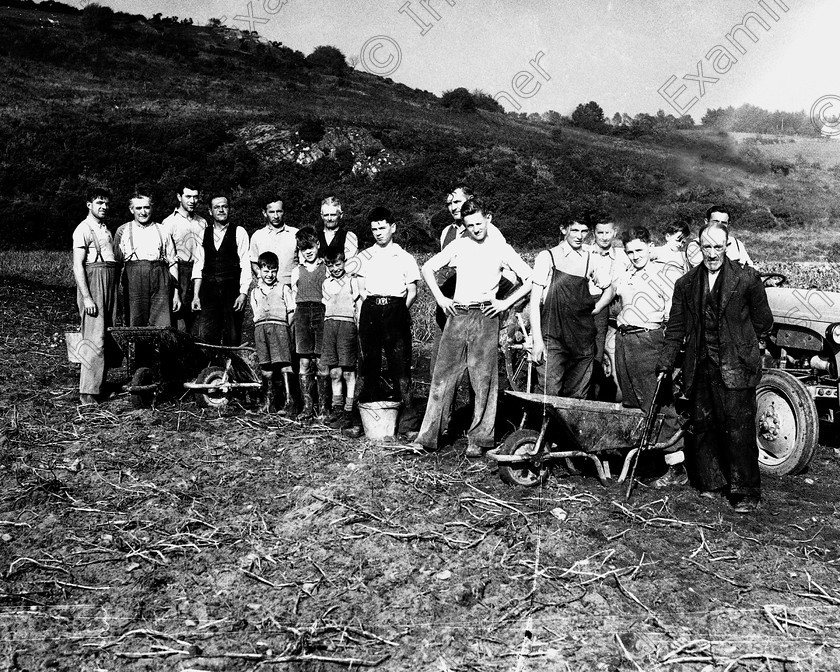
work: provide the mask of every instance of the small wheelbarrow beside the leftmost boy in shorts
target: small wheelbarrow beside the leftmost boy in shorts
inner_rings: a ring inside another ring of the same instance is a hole
[[[260,389],[262,376],[257,353],[247,345],[237,347],[196,343],[210,364],[184,387],[195,394],[196,403],[204,408],[227,406],[236,390]]]

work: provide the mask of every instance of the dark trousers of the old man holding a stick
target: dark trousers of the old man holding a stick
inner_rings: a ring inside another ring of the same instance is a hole
[[[691,391],[692,436],[687,467],[701,490],[729,486],[730,495],[761,496],[755,441],[755,388],[727,389],[720,367],[697,364]]]

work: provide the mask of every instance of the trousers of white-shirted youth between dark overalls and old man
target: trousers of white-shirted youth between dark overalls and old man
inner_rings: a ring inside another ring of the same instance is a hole
[[[656,360],[665,343],[662,329],[639,331],[631,334],[618,332],[615,346],[615,366],[618,382],[621,386],[622,403],[629,408],[641,408],[645,413],[650,410],[653,395],[656,393]],[[670,378],[663,381],[670,386]],[[665,396],[660,394],[660,401]],[[662,407],[664,421],[659,440],[671,438],[679,429],[677,412],[673,404]],[[682,443],[677,442],[665,452],[675,453],[682,450]]]

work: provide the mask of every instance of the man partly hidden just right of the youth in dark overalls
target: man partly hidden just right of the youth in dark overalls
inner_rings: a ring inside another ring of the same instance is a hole
[[[606,220],[596,223],[593,233],[595,241],[585,245],[584,249],[592,254],[596,285],[599,289],[605,290],[627,269],[630,262],[627,260],[627,255],[613,245],[616,236],[613,222]],[[610,310],[610,304],[606,304],[595,315],[595,361],[593,362],[592,387],[597,386],[599,392],[595,396],[603,394],[608,377],[618,382],[615,373],[616,336],[615,328],[609,326]]]

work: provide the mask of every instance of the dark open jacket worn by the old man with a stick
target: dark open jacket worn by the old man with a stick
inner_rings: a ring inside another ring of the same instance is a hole
[[[756,387],[761,380],[761,355],[758,340],[773,327],[773,313],[758,274],[729,259],[724,260],[720,295],[720,372],[729,389]],[[694,386],[694,374],[702,344],[703,282],[705,265],[690,270],[674,285],[671,315],[665,330],[665,345],[659,355],[657,370],[674,367],[680,348],[685,344],[683,378],[685,391]]]

